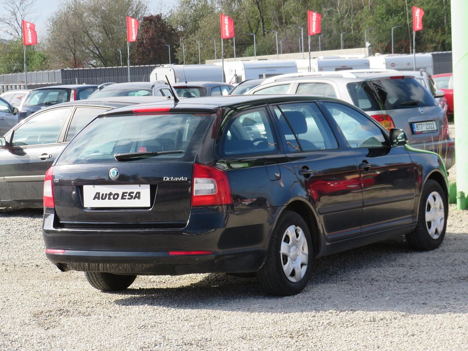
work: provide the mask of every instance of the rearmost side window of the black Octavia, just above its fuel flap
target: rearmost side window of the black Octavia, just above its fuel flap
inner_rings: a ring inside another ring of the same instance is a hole
[[[240,112],[223,130],[220,153],[223,156],[267,155],[277,152],[267,111],[264,108]]]

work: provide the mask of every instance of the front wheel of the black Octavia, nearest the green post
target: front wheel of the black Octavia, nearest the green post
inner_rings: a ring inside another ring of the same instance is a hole
[[[447,196],[436,181],[428,180],[421,195],[418,224],[406,234],[411,248],[420,251],[438,248],[445,237],[447,216]]]

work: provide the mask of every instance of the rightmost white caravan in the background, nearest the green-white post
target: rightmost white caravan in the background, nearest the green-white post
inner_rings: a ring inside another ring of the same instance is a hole
[[[425,69],[433,74],[434,63],[431,54],[416,54],[416,69],[414,69],[413,55],[376,55],[369,57],[370,68],[397,69],[399,71],[413,71]]]

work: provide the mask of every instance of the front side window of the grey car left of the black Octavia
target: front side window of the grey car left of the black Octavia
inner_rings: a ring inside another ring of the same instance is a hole
[[[70,109],[57,108],[35,115],[14,130],[12,146],[56,143]]]

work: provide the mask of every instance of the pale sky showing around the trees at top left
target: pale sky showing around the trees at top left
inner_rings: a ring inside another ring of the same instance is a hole
[[[60,7],[60,4],[64,0],[35,0],[34,11],[31,18],[25,18],[29,22],[33,22],[36,25],[36,31],[38,39],[40,40],[47,34],[47,20],[54,14]],[[151,13],[163,13],[167,14],[170,9],[177,5],[178,0],[145,0]],[[0,5],[0,12],[2,12],[3,6]],[[4,37],[4,35],[0,35]]]

